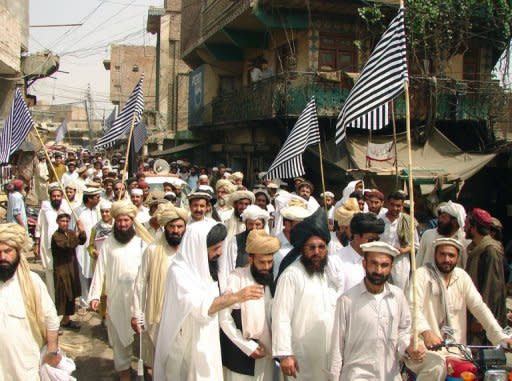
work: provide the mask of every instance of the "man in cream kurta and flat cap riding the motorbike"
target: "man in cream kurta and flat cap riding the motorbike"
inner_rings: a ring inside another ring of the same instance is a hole
[[[463,245],[453,238],[439,238],[433,246],[435,263],[420,267],[416,272],[417,329],[425,346],[429,348],[441,342],[441,328],[445,325],[455,330],[453,338],[456,343],[466,344],[466,315],[469,310],[494,345],[503,342],[510,348],[512,340],[502,332],[470,276],[456,267]],[[418,381],[444,380],[446,355],[444,351],[428,351],[423,363],[406,360],[406,365],[417,374]]]

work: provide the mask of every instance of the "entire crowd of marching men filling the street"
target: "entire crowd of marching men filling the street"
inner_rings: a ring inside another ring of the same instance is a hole
[[[59,332],[80,330],[77,307],[100,314],[122,381],[134,340],[147,379],[159,381],[401,380],[403,364],[419,381],[444,380],[449,353],[431,350],[444,326],[458,343],[512,345],[502,227],[483,209],[443,202],[420,231],[404,192],[361,180],[318,202],[304,178],[285,189],[224,165],[171,163],[177,181],[152,191],[150,166],[123,181],[99,156],[47,164],[41,157],[32,183],[33,244],[28,184],[7,186],[0,379],[57,367]]]

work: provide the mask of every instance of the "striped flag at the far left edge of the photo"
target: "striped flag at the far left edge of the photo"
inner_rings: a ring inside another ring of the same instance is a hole
[[[0,135],[0,164],[9,162],[9,157],[23,143],[33,125],[27,104],[17,88],[11,111]]]

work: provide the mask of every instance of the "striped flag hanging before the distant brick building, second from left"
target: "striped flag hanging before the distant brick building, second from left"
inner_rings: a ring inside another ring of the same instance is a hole
[[[94,148],[109,148],[114,145],[117,139],[122,137],[126,132],[130,131],[133,114],[135,114],[135,125],[139,123],[144,110],[144,91],[142,85],[144,84],[144,75],[139,79],[139,82],[132,91],[128,101],[119,113],[112,127],[101,137],[96,143]]]

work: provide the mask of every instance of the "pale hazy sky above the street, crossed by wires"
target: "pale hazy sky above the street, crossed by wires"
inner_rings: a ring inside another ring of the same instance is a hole
[[[47,104],[82,103],[90,85],[94,113],[108,114],[110,72],[103,60],[110,58],[110,44],[156,44],[146,32],[150,5],[163,7],[163,0],[31,0],[29,25],[83,25],[29,29],[29,52],[49,49],[67,72],[37,80],[30,93]]]

